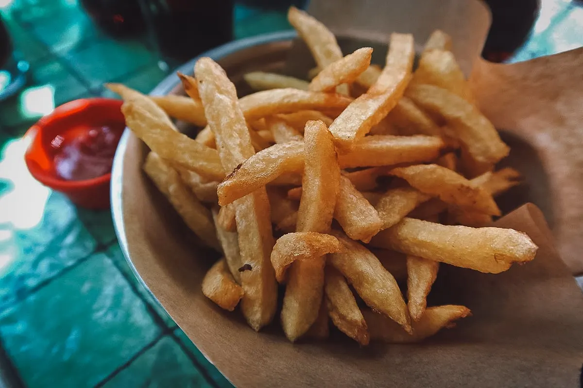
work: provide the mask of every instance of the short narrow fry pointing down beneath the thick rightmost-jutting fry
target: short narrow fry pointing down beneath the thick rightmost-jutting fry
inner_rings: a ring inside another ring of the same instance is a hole
[[[427,306],[427,295],[436,281],[439,262],[416,256],[407,257],[407,307],[413,322],[419,321]]]

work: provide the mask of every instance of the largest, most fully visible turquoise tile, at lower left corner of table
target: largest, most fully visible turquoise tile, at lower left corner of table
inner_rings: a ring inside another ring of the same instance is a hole
[[[101,254],[0,315],[3,346],[30,388],[94,386],[159,333]]]

